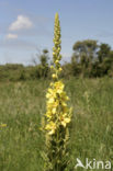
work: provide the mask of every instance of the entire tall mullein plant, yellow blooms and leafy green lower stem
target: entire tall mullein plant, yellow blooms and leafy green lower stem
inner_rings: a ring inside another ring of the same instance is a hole
[[[60,23],[58,13],[55,15],[54,27],[54,47],[53,47],[53,66],[52,82],[46,93],[46,114],[45,132],[46,152],[43,153],[45,159],[45,171],[66,171],[69,164],[69,124],[71,122],[71,109],[68,109],[67,101],[69,98],[64,91],[65,84],[60,80]]]

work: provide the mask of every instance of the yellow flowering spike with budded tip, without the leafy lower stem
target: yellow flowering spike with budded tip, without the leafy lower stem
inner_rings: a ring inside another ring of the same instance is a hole
[[[56,132],[56,125],[63,125],[66,127],[68,123],[70,123],[70,116],[68,116],[68,106],[66,101],[69,100],[69,98],[66,95],[66,92],[64,91],[65,84],[61,80],[59,80],[59,72],[61,71],[61,67],[59,64],[59,60],[61,59],[60,53],[60,26],[59,26],[59,19],[58,14],[55,15],[55,32],[54,32],[54,44],[53,47],[53,58],[54,64],[50,66],[53,69],[53,82],[50,83],[50,87],[48,88],[46,99],[47,99],[47,125],[46,129],[49,129],[48,134],[53,135]],[[57,123],[59,122],[59,123]]]

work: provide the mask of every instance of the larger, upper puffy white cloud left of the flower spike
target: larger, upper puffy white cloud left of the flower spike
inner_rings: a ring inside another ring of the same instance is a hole
[[[18,15],[16,21],[14,21],[9,30],[10,31],[19,31],[19,30],[25,30],[25,29],[31,29],[33,26],[32,21],[23,15]]]

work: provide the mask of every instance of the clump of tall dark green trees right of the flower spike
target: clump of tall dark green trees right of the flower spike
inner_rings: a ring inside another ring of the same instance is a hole
[[[109,44],[87,39],[75,43],[71,65],[74,75],[103,77],[113,73],[113,50]]]

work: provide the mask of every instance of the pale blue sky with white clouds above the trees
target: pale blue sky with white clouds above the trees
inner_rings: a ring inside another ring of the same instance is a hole
[[[43,48],[52,56],[56,12],[64,61],[77,41],[92,38],[113,47],[113,0],[0,0],[0,64],[31,65]]]

